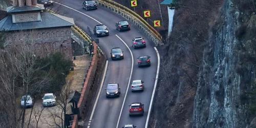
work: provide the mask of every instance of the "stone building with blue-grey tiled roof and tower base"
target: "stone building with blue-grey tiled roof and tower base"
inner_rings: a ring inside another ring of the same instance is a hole
[[[36,0],[14,0],[7,9],[8,16],[0,21],[0,31],[7,32],[5,47],[20,42],[33,45],[41,56],[60,51],[72,59],[71,27],[73,18],[44,12]]]

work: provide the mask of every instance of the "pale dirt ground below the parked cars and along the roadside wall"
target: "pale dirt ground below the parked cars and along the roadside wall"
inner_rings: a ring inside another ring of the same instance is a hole
[[[76,65],[74,67],[74,71],[71,71],[66,78],[67,81],[70,80],[70,86],[72,91],[76,90],[78,92],[81,92],[83,79],[85,77],[87,69],[89,69],[90,61],[90,55],[76,56],[76,59],[73,61]],[[71,113],[70,105],[71,104],[67,105],[67,114]],[[32,108],[26,109],[26,124],[28,124],[31,110]],[[40,113],[41,116],[39,118]],[[36,100],[31,114],[31,121],[29,127],[36,127],[36,123],[38,128],[59,127],[57,125],[61,126],[61,119],[58,118],[58,116],[61,117],[61,109],[59,109],[57,105],[42,107],[42,100]]]

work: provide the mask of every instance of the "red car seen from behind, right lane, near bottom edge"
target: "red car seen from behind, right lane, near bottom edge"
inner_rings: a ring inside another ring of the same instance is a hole
[[[131,103],[130,109],[129,109],[129,116],[132,115],[144,115],[144,104],[142,104],[141,102],[135,102],[135,103]]]

